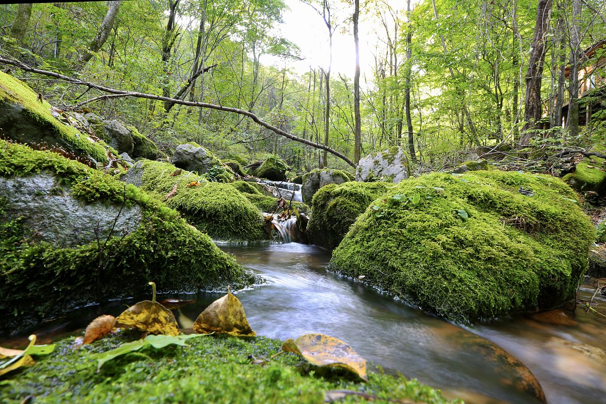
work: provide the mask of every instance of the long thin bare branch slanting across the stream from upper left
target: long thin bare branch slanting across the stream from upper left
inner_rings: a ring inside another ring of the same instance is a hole
[[[241,110],[240,108],[223,107],[222,105],[207,104],[206,102],[184,101],[181,99],[157,96],[154,94],[139,93],[137,91],[116,90],[115,88],[105,87],[103,85],[95,84],[92,82],[76,79],[76,78],[69,77],[69,76],[60,75],[59,73],[55,73],[54,71],[41,70],[38,68],[34,68],[30,65],[26,65],[24,63],[12,61],[10,59],[5,59],[5,58],[0,58],[0,63],[13,65],[13,66],[20,68],[21,70],[29,71],[30,73],[36,73],[38,75],[54,77],[54,78],[57,78],[57,79],[60,79],[63,81],[67,81],[67,82],[70,82],[73,84],[84,85],[85,87],[88,87],[88,88],[95,88],[95,90],[102,91],[104,93],[116,94],[116,96],[120,95],[120,96],[124,96],[124,97],[154,99],[156,101],[174,102],[175,104],[186,105],[188,107],[208,108],[211,110],[225,111],[225,112],[231,112],[231,113],[244,115],[244,116],[247,116],[248,118],[252,119],[253,122],[255,122],[256,124],[259,124],[262,127],[267,128],[276,134],[279,134],[280,136],[284,136],[287,139],[291,139],[292,141],[299,142],[299,143],[302,143],[302,144],[305,144],[305,145],[308,145],[308,146],[311,146],[314,148],[319,148],[321,150],[328,151],[328,153],[334,154],[335,156],[339,157],[339,159],[342,159],[347,164],[351,165],[351,167],[356,167],[356,164],[354,164],[353,161],[348,159],[347,156],[345,156],[345,154],[339,153],[338,151],[333,150],[330,147],[325,146],[323,144],[311,142],[311,141],[308,141],[307,139],[303,139],[302,137],[295,136],[294,134],[285,132],[285,131],[281,130],[280,128],[277,128],[271,124],[268,124],[265,121],[262,121],[261,118],[259,118],[255,114],[253,114],[249,111]],[[90,102],[90,101],[88,101],[88,102]]]

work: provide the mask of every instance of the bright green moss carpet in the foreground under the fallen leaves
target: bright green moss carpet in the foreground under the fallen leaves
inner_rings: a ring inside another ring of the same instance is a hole
[[[339,371],[321,371],[295,354],[282,354],[266,366],[251,357],[269,358],[280,340],[207,336],[187,340],[188,346],[145,349],[105,363],[96,373],[93,353],[130,341],[128,334],[108,336],[72,349],[73,338],[36,358],[36,365],[8,376],[0,386],[5,403],[19,403],[32,394],[36,402],[63,403],[324,403],[323,392],[353,390],[390,401],[441,404],[439,391],[402,376],[368,374],[368,383]],[[342,402],[365,402],[356,396]],[[378,399],[375,403],[387,403]]]

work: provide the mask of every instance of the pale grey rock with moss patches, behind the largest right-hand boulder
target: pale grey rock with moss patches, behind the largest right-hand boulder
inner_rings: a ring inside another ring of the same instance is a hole
[[[410,176],[410,165],[404,149],[392,147],[388,150],[368,154],[360,159],[356,168],[356,181],[391,181],[398,184]]]

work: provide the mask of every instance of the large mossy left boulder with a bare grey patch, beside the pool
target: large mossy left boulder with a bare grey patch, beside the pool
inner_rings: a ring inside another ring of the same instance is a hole
[[[59,154],[0,141],[0,180],[14,191],[0,200],[6,331],[76,306],[148,294],[150,281],[159,291],[193,292],[255,280],[155,197]]]

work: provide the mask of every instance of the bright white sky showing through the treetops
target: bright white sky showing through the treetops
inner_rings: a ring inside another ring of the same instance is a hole
[[[288,61],[287,64],[295,68],[297,73],[305,73],[309,70],[310,65],[312,67],[327,67],[328,30],[321,16],[300,0],[284,0],[284,2],[290,7],[290,11],[284,13],[284,24],[275,28],[286,39],[298,45],[301,49],[301,56],[305,58],[302,61]],[[402,11],[406,8],[405,0],[385,0],[385,2],[404,15]],[[333,1],[333,3],[339,3],[339,1]],[[381,38],[385,36],[383,28],[371,20],[369,15],[372,11],[361,9],[360,12],[360,65],[362,75],[370,75],[375,64],[373,51],[375,51],[376,42],[378,41],[376,28],[381,28]],[[339,22],[339,27],[333,36],[332,71],[335,72],[335,75],[341,73],[353,78],[355,69],[353,25],[350,22],[343,22],[344,18],[350,18],[351,13],[353,13],[353,6],[345,7],[335,19]],[[271,58],[270,56],[265,56],[262,62],[264,64],[282,64],[280,59]]]

